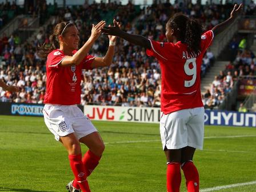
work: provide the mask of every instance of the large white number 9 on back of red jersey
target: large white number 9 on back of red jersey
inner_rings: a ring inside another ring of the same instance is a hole
[[[192,79],[190,81],[184,81],[184,86],[185,87],[191,87],[195,84],[195,80],[197,79],[197,63],[195,62],[196,58],[190,58],[187,59],[185,65],[184,65],[184,70],[185,73],[189,76],[193,75]],[[189,64],[192,63],[193,68],[189,68]]]

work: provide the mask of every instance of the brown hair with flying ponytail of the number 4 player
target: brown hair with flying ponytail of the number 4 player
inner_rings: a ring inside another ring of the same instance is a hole
[[[61,22],[58,23],[55,26],[55,29],[53,31],[53,34],[50,35],[50,47],[45,45],[45,43],[43,43],[43,45],[39,45],[37,46],[38,50],[39,50],[39,57],[41,58],[47,58],[47,55],[49,53],[51,53],[51,51],[58,49],[59,48],[59,35],[63,35],[66,33],[67,28],[70,26],[74,26],[73,23],[69,23],[69,22]]]

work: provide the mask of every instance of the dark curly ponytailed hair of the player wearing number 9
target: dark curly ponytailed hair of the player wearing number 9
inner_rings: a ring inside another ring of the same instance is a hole
[[[167,22],[167,26],[174,30],[179,41],[186,43],[190,51],[201,50],[201,35],[203,27],[195,19],[189,19],[182,13],[174,14]]]

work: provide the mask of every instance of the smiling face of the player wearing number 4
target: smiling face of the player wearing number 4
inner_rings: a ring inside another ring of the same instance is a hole
[[[67,28],[67,32],[63,35],[63,42],[72,50],[78,50],[79,39],[79,33],[75,26]]]

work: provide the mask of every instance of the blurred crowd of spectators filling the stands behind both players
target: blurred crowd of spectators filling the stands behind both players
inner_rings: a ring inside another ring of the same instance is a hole
[[[106,18],[113,17],[122,23],[122,29],[128,33],[142,34],[149,39],[164,42],[165,24],[170,15],[182,11],[191,18],[198,19],[205,30],[222,22],[229,17],[231,4],[226,5],[193,5],[190,1],[171,4],[154,3],[141,9],[130,2],[127,5],[117,3],[84,3],[82,6],[55,9],[49,25],[42,26],[33,41],[21,42],[19,35],[14,33],[11,37],[2,35],[0,39],[0,78],[8,85],[21,87],[19,93],[10,93],[0,88],[0,101],[43,103],[46,89],[45,61],[38,57],[37,45],[49,43],[49,36],[54,26],[61,21],[69,21],[77,25],[80,31],[81,45],[87,41],[91,32],[91,23],[96,23]],[[46,5],[46,4],[45,4]],[[45,6],[45,12],[49,7]],[[59,16],[61,15],[61,16]],[[133,24],[134,23],[134,24]],[[108,23],[110,24],[110,23]],[[101,36],[94,43],[90,54],[102,57],[108,47],[108,38]],[[118,106],[160,106],[161,71],[156,59],[147,57],[146,50],[131,45],[123,39],[118,39],[118,50],[110,67],[83,71],[82,79],[82,105],[118,105]],[[238,52],[238,58],[243,62],[245,50]],[[243,56],[242,56],[243,55]],[[238,63],[241,61],[235,59]],[[240,64],[236,70],[223,71],[223,77],[217,77],[214,86],[209,90],[206,98],[218,99],[225,97],[227,90],[231,89],[234,73],[241,74]],[[255,61],[254,61],[255,64]],[[214,65],[214,55],[207,51],[203,58],[201,75]],[[243,65],[243,64],[242,64]],[[235,69],[235,68],[234,68]],[[251,69],[251,68],[250,68]],[[242,68],[243,74],[246,66]],[[230,74],[229,74],[230,73]],[[223,80],[226,78],[225,80]],[[218,83],[219,82],[219,83]],[[225,83],[224,83],[225,82]],[[225,89],[222,89],[225,87]],[[227,90],[226,88],[229,87]],[[205,100],[204,100],[205,99]],[[208,104],[206,104],[208,105]],[[209,104],[210,105],[210,104]],[[213,104],[215,105],[215,104]],[[218,103],[216,103],[216,106]],[[211,105],[210,105],[211,106]]]

